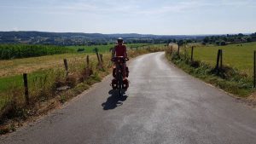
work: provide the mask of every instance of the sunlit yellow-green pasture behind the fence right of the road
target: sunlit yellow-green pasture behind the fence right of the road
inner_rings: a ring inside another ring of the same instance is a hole
[[[215,66],[218,49],[223,49],[224,65],[236,68],[249,76],[253,75],[253,51],[256,50],[256,42],[226,46],[197,46],[194,49],[194,59]]]

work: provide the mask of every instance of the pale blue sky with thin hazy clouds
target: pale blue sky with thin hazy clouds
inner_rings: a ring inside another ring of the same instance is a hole
[[[255,0],[0,0],[0,31],[256,32]]]

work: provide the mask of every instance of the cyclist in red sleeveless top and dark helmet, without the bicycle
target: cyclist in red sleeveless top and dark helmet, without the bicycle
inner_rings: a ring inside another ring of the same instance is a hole
[[[112,60],[114,59],[114,57],[119,57],[119,56],[123,56],[125,59],[128,58],[127,55],[127,51],[126,51],[126,46],[124,44],[124,40],[122,37],[119,37],[117,39],[117,44],[114,46],[113,50],[112,50]],[[126,73],[126,63],[124,61],[123,65],[122,65],[122,69],[123,69],[123,78],[125,79],[127,76]],[[114,70],[113,70],[113,76],[114,76]]]

